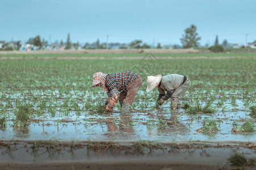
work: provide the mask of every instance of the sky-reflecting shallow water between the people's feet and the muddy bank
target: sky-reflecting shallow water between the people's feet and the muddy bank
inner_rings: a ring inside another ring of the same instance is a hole
[[[235,120],[250,118],[249,111],[217,111],[214,114],[184,114],[184,109],[170,111],[168,106],[157,112],[133,112],[131,116],[120,116],[120,111],[99,116],[69,116],[52,118],[44,114],[28,122],[24,127],[15,128],[12,121],[0,130],[2,140],[149,140],[149,141],[241,141],[256,142],[255,133],[233,133]],[[87,114],[86,114],[87,115]],[[221,120],[217,133],[200,133],[205,118]]]

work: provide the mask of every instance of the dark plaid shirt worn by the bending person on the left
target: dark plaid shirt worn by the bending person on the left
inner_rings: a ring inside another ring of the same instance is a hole
[[[125,71],[121,73],[108,74],[106,76],[105,85],[108,91],[117,88],[118,91],[126,91],[127,86],[132,83],[133,80],[138,78],[140,75],[131,71]]]

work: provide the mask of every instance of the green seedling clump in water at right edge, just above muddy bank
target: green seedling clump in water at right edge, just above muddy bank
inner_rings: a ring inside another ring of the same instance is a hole
[[[233,122],[233,132],[254,132],[255,130],[255,125],[254,122],[251,120],[246,120],[244,123],[234,121]]]

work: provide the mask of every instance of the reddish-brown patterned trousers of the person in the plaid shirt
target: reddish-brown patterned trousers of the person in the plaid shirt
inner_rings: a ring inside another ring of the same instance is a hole
[[[124,103],[132,105],[135,96],[142,84],[142,78],[139,76],[127,87],[127,95],[125,96]]]

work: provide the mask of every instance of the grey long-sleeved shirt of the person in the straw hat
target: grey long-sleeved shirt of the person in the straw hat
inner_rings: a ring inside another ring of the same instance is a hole
[[[178,88],[182,81],[183,81],[184,75],[179,74],[169,74],[162,76],[161,84],[158,87],[158,91],[160,94],[165,94],[165,91],[171,91]]]

